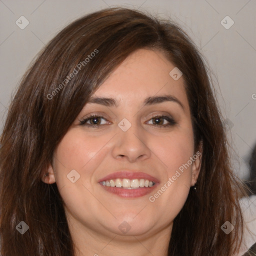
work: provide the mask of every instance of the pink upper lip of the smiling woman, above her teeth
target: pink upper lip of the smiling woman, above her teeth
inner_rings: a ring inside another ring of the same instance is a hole
[[[104,180],[110,180],[110,179],[116,179],[116,178],[128,178],[128,179],[148,179],[149,181],[153,182],[159,182],[159,180],[156,177],[153,177],[145,172],[136,171],[136,170],[120,170],[113,173],[110,173],[103,178],[99,179],[98,182],[104,181]]]

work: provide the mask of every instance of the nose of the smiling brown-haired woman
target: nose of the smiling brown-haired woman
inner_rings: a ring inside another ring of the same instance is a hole
[[[126,159],[129,162],[145,160],[151,155],[147,146],[145,131],[136,124],[131,124],[130,128],[123,131],[117,127],[112,149],[112,156],[116,159]]]

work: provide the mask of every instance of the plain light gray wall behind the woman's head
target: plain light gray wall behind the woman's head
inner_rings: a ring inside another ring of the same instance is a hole
[[[246,177],[256,142],[255,0],[0,0],[0,132],[10,99],[38,51],[70,21],[116,5],[170,17],[198,45],[226,118],[234,169]],[[24,29],[15,23],[22,15],[29,21]],[[228,29],[222,25],[230,26],[227,15],[234,22]]]

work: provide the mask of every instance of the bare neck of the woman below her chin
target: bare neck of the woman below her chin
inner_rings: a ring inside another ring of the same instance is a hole
[[[167,256],[172,224],[152,234],[120,235],[105,230],[98,232],[76,221],[68,222],[75,256]]]

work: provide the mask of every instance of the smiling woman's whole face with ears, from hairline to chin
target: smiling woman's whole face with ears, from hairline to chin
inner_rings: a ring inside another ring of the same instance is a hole
[[[130,54],[56,147],[44,182],[56,182],[76,230],[170,233],[200,165],[184,81],[174,67],[160,51]]]

